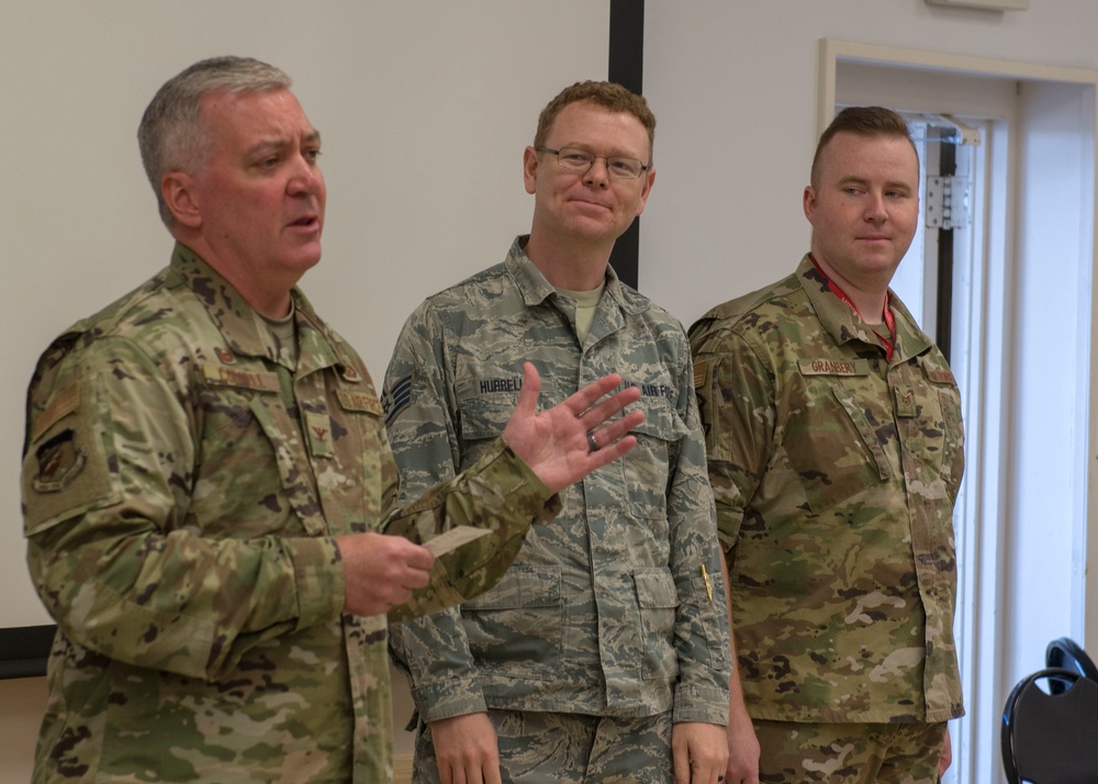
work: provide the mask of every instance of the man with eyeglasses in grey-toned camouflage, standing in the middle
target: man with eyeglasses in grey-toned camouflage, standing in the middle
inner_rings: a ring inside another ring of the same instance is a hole
[[[728,623],[690,347],[608,266],[656,180],[654,128],[617,85],[550,101],[523,158],[530,233],[419,306],[389,366],[410,496],[483,452],[523,357],[542,400],[613,369],[645,412],[632,453],[562,493],[559,527],[531,530],[498,586],[391,627],[418,714],[415,782],[724,777]]]

